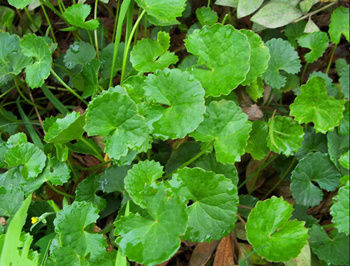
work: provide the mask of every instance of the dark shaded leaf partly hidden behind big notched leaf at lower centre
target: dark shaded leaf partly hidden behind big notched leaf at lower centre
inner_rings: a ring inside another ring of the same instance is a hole
[[[222,164],[217,162],[214,153],[200,157],[196,160],[194,165],[195,167],[224,175],[226,178],[231,179],[235,186],[238,184],[238,172],[236,166],[234,164]]]

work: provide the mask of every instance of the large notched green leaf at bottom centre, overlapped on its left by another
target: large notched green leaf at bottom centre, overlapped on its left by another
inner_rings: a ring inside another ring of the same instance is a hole
[[[187,207],[188,226],[184,239],[191,242],[219,240],[236,222],[237,187],[223,175],[201,168],[178,170],[170,181]]]

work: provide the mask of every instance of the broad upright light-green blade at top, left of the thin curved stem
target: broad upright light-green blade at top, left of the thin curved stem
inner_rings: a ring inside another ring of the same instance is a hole
[[[110,78],[109,78],[109,87],[112,87],[112,84],[113,84],[114,69],[115,69],[115,64],[117,62],[118,49],[119,49],[119,44],[120,44],[120,40],[122,37],[122,31],[123,31],[123,22],[124,22],[126,13],[129,9],[130,2],[131,2],[131,0],[124,0],[123,1],[122,5],[120,7],[120,13],[118,15],[118,25],[117,25],[117,32],[116,32],[115,41],[114,41],[112,68],[111,68],[111,74],[110,74]]]

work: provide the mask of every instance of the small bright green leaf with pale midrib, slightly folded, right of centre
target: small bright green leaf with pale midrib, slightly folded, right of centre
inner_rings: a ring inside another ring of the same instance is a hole
[[[290,156],[301,148],[304,130],[292,118],[275,116],[270,118],[268,125],[267,146],[272,151]]]

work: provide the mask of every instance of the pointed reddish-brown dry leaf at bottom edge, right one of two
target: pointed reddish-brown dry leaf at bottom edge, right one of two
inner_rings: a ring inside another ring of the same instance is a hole
[[[226,236],[221,239],[218,248],[216,249],[215,259],[213,266],[233,266],[234,261],[234,249],[230,236]]]

